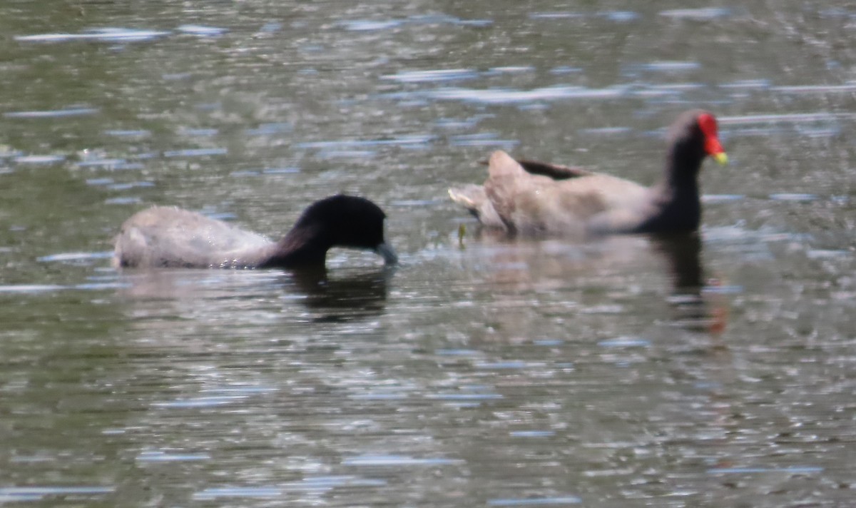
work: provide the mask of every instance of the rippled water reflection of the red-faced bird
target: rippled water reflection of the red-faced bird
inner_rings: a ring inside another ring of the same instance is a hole
[[[474,240],[474,242],[473,242]],[[490,269],[493,284],[512,284],[522,292],[607,290],[612,305],[592,307],[585,295],[571,295],[567,308],[584,314],[639,312],[622,302],[639,291],[668,285],[664,301],[672,309],[669,320],[684,330],[718,334],[724,330],[727,305],[719,281],[705,275],[703,241],[697,233],[665,236],[609,236],[587,242],[564,239],[511,238],[479,228],[461,248],[479,257]],[[659,281],[659,282],[658,282]],[[711,285],[712,284],[712,285]]]

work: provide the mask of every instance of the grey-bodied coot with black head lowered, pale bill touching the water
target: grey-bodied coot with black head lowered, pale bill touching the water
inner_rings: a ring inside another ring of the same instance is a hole
[[[324,267],[332,247],[365,248],[397,261],[383,237],[386,214],[370,200],[337,194],[318,200],[278,242],[174,206],[152,206],[122,224],[115,266],[143,268]]]

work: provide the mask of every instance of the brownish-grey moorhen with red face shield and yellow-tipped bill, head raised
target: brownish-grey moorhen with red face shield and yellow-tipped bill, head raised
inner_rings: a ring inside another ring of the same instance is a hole
[[[698,229],[698,171],[708,155],[728,158],[708,111],[686,111],[669,128],[661,182],[644,187],[623,178],[520,160],[497,151],[484,185],[450,188],[485,226],[509,233],[588,236]]]

